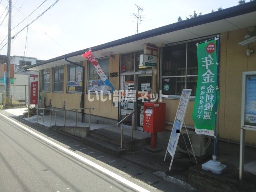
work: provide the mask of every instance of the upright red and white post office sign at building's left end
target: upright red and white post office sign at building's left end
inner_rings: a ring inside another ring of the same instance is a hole
[[[30,85],[30,104],[38,104],[38,72],[29,72],[29,85]]]

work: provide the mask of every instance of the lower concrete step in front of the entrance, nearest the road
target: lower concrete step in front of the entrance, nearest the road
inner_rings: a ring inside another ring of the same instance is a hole
[[[126,152],[125,149],[121,150],[121,148],[118,146],[99,140],[92,136],[86,136],[85,138],[83,138],[82,142],[90,147],[96,148],[100,151],[103,151],[107,154],[112,154],[114,156],[120,156]]]

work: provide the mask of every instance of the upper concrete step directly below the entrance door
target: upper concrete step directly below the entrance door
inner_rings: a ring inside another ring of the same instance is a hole
[[[120,133],[114,132],[114,131],[110,131],[102,128],[102,129],[90,130],[89,135],[93,138],[102,140],[109,144],[112,144],[118,147],[121,146],[121,132]],[[145,146],[148,144],[150,144],[150,137],[142,138],[142,139],[133,138],[133,140],[131,140],[131,136],[127,136],[125,134],[123,135],[123,148],[126,149],[127,151],[134,150],[138,147]]]

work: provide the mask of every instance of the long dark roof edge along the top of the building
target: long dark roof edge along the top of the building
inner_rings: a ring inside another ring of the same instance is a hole
[[[214,21],[218,21],[218,20],[222,20],[222,19],[226,19],[226,18],[231,18],[234,16],[239,16],[242,14],[247,14],[250,12],[254,12],[256,11],[256,1],[251,1],[251,2],[247,2],[241,5],[237,5],[234,7],[230,7],[230,8],[226,8],[223,10],[219,10],[216,12],[212,12],[212,13],[208,13],[202,16],[198,16],[196,18],[192,18],[192,19],[188,19],[188,20],[184,20],[184,21],[180,21],[180,22],[176,22],[173,24],[169,24],[166,26],[162,26],[159,28],[155,28],[152,30],[148,30],[145,32],[141,32],[139,34],[135,34],[132,36],[128,36],[125,38],[121,38],[118,40],[114,40],[105,44],[101,44],[101,45],[97,45],[94,46],[92,48],[90,48],[92,51],[97,51],[97,50],[102,50],[102,49],[106,49],[106,48],[110,48],[110,47],[114,47],[114,46],[118,46],[118,45],[122,45],[122,44],[126,44],[126,43],[130,43],[130,42],[134,42],[137,40],[142,40],[145,38],[150,38],[153,36],[158,36],[161,34],[166,34],[168,32],[174,32],[177,30],[182,30],[182,29],[186,29],[186,28],[190,28],[193,26],[198,26],[198,25],[202,25],[202,24],[206,24],[206,23],[210,23],[210,22],[214,22]],[[34,64],[32,66],[26,67],[26,69],[30,69],[36,66],[40,66],[43,64],[47,64],[50,62],[55,62],[58,60],[62,60],[65,57],[66,58],[70,58],[73,56],[78,56],[83,54],[84,52],[86,52],[89,48],[83,49],[83,50],[78,50],[76,52],[72,52],[72,53],[68,53],[62,56],[58,56],[56,58],[52,58],[49,60],[46,60],[44,62],[40,62],[38,64]]]

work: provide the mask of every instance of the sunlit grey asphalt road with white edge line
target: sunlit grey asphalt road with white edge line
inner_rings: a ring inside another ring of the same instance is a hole
[[[0,115],[0,192],[158,191],[19,124]]]

